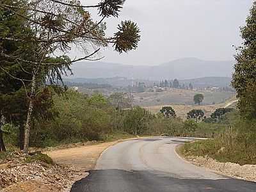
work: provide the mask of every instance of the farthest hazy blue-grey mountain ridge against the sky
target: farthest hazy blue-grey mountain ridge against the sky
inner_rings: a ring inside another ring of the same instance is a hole
[[[195,79],[198,77],[231,77],[234,61],[204,61],[197,58],[183,58],[161,65],[132,66],[100,61],[73,65],[73,77],[129,79]]]

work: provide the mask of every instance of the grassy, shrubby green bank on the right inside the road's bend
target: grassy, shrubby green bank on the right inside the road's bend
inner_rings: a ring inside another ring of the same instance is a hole
[[[183,151],[187,156],[209,156],[220,162],[255,164],[255,125],[255,121],[236,119],[231,125],[221,125],[214,139],[186,143]]]

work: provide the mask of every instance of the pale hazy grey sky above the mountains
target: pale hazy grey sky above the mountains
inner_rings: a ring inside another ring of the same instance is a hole
[[[93,4],[96,0],[81,0]],[[110,18],[108,35],[120,20],[133,20],[141,29],[136,51],[119,55],[102,50],[104,60],[131,65],[159,65],[179,58],[233,60],[232,45],[240,45],[253,0],[127,0],[118,19]]]

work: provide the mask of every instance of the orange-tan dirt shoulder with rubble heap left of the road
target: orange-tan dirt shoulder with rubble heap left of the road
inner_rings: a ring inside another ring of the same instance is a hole
[[[97,159],[106,148],[118,140],[108,143],[76,143],[44,150],[55,164],[42,162],[24,163],[19,157],[0,163],[0,191],[2,192],[50,192],[70,191],[72,184],[93,170]],[[67,147],[67,148],[65,148]],[[59,149],[60,148],[60,149]]]

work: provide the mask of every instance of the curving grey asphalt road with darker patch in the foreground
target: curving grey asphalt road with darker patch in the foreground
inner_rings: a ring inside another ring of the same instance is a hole
[[[108,148],[72,192],[256,192],[255,182],[230,179],[187,163],[175,147],[188,138],[146,138]]]

